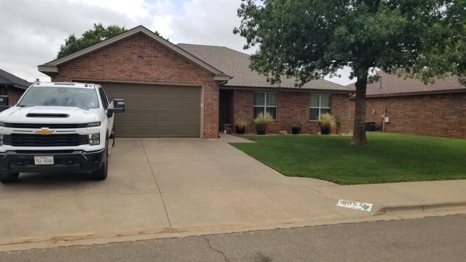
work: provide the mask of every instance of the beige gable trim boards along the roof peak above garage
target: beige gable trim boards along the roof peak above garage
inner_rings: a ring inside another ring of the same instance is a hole
[[[114,35],[114,36],[112,36],[110,38],[107,38],[107,39],[101,41],[101,42],[98,42],[98,43],[95,43],[95,44],[93,44],[93,45],[91,45],[89,47],[83,48],[82,50],[71,53],[71,54],[69,54],[67,56],[60,57],[60,58],[52,60],[52,61],[50,61],[48,63],[38,65],[37,69],[40,72],[45,73],[45,74],[47,74],[47,73],[58,73],[59,72],[59,69],[57,67],[58,65],[69,62],[69,61],[71,61],[71,60],[73,60],[75,58],[82,57],[82,56],[87,55],[87,54],[89,54],[91,52],[94,52],[96,50],[100,50],[100,49],[102,49],[102,48],[104,48],[106,46],[109,46],[111,44],[114,44],[116,42],[124,40],[124,39],[126,39],[126,38],[128,38],[130,36],[136,35],[138,33],[143,33],[144,35],[147,35],[149,38],[153,39],[154,41],[157,41],[157,42],[161,43],[162,45],[164,45],[167,49],[177,53],[178,55],[180,55],[182,57],[185,57],[186,59],[193,62],[194,64],[197,64],[200,67],[203,67],[207,71],[212,72],[212,74],[214,74],[216,76],[219,76],[219,77],[228,77],[228,79],[229,79],[229,76],[226,75],[225,73],[223,73],[222,71],[216,69],[215,67],[213,67],[210,64],[207,64],[206,62],[202,61],[198,57],[193,56],[192,54],[190,54],[186,50],[183,50],[182,48],[179,48],[175,44],[173,44],[173,43],[167,41],[166,39],[164,39],[163,37],[161,37],[159,35],[156,35],[154,32],[152,32],[151,30],[145,28],[144,26],[137,26],[135,28],[131,28],[128,31],[125,31],[125,32],[123,32],[121,34],[118,34],[118,35]]]

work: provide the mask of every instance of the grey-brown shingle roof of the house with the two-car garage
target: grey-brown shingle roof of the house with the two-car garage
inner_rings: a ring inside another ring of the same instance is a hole
[[[198,57],[207,64],[233,77],[225,86],[274,87],[267,78],[249,68],[249,55],[223,46],[178,43],[178,47]],[[295,78],[281,78],[281,87],[295,88]],[[297,88],[297,87],[296,87]],[[348,87],[319,79],[302,88],[317,90],[351,91]]]

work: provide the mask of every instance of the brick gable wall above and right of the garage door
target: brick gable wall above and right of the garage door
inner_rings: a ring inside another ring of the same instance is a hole
[[[204,137],[218,137],[219,82],[212,80],[211,72],[142,33],[58,68],[60,72],[52,76],[52,81],[78,78],[204,85]]]

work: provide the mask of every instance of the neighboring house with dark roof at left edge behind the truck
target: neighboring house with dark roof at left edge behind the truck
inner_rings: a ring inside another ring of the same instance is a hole
[[[0,95],[9,96],[10,106],[16,104],[29,85],[32,84],[0,69]]]

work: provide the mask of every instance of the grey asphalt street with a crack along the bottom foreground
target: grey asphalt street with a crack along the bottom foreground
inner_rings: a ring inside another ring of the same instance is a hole
[[[466,214],[0,253],[2,262],[464,261]]]

